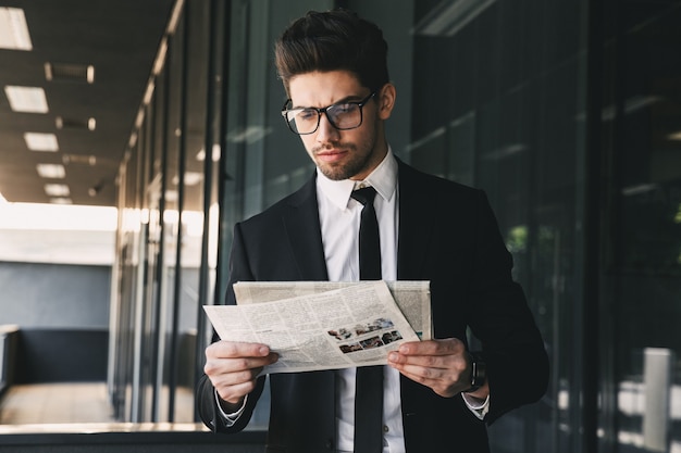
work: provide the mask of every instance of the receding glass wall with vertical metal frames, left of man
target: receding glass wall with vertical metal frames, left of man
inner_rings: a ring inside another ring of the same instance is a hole
[[[219,250],[224,7],[176,3],[121,164],[109,387],[125,421],[195,420]]]

